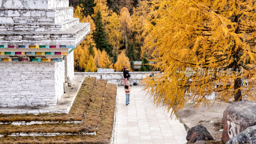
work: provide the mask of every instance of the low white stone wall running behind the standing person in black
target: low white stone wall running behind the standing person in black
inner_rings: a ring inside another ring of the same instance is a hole
[[[151,72],[129,72],[131,77],[129,77],[129,82],[133,84],[133,82],[140,83],[140,80],[146,77],[146,75],[150,75]],[[156,72],[158,73],[158,72]],[[124,74],[123,72],[107,72],[107,73],[92,73],[92,72],[75,72],[75,75],[81,76],[90,76],[96,77],[97,79],[104,79],[108,83],[123,85],[124,84]]]

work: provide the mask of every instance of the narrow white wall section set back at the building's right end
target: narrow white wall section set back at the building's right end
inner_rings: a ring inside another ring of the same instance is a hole
[[[68,82],[68,76],[70,80],[74,77],[74,51],[65,59],[65,82]]]

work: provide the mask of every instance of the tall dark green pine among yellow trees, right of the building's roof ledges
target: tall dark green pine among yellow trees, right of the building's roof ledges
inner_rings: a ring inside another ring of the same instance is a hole
[[[107,53],[110,52],[108,44],[106,43],[106,33],[105,28],[102,22],[102,16],[100,10],[96,13],[95,17],[95,30],[93,31],[93,38],[96,44],[96,47],[100,49],[100,51],[105,50]]]

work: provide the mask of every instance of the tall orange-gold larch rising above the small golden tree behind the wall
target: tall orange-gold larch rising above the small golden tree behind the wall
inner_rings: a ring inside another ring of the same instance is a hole
[[[126,7],[120,11],[120,28],[122,31],[123,41],[125,44],[125,51],[128,51],[129,38],[132,32],[132,18],[130,12]]]

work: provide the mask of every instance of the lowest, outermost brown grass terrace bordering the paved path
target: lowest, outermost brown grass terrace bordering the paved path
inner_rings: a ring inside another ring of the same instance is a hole
[[[96,83],[97,84],[97,83]],[[101,105],[100,119],[96,136],[75,135],[75,136],[54,136],[54,137],[2,137],[0,143],[88,143],[103,144],[110,143],[112,128],[114,123],[114,113],[116,106],[116,84],[107,84],[105,97]],[[81,90],[81,89],[80,89]],[[80,91],[79,91],[80,92]],[[87,110],[89,112],[90,109]],[[86,115],[85,115],[86,116]],[[88,119],[87,119],[88,120]]]

